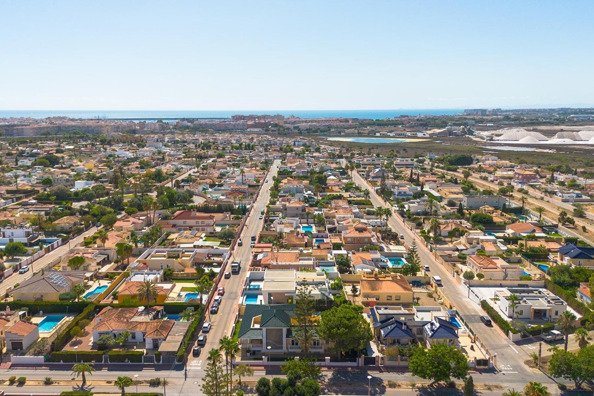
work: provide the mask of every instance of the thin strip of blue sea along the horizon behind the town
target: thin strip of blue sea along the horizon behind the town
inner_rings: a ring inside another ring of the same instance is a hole
[[[299,118],[370,118],[384,119],[402,115],[443,116],[463,113],[463,109],[396,109],[396,110],[0,110],[0,118],[69,117],[81,119],[118,119],[175,121],[182,118],[225,119],[233,115],[268,114]]]

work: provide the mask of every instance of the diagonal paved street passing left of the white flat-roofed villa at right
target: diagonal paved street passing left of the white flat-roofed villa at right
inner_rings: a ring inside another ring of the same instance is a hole
[[[356,172],[353,172],[353,181],[362,188],[369,189],[365,180]],[[383,207],[388,207],[388,205],[381,201],[374,191],[371,191],[369,198],[374,206],[381,205]],[[535,374],[523,364],[523,361],[529,358],[528,354],[515,346],[507,337],[505,337],[499,328],[486,327],[480,321],[479,316],[485,315],[485,312],[477,303],[467,298],[467,293],[465,292],[466,289],[457,284],[452,275],[448,273],[442,265],[435,261],[434,256],[425,247],[424,241],[416,237],[397,215],[391,217],[388,220],[388,224],[397,233],[405,235],[405,241],[409,246],[412,244],[413,240],[416,239],[417,245],[419,246],[419,256],[421,261],[424,265],[429,265],[429,268],[431,269],[429,274],[441,277],[445,297],[456,306],[457,311],[463,316],[470,327],[472,327],[472,330],[476,332],[488,350],[491,353],[497,353],[495,362],[497,369],[500,370],[503,375],[513,376],[514,378],[523,380],[525,380],[527,376],[534,376]],[[536,374],[536,376],[538,376],[538,374]],[[546,378],[543,375],[541,375],[541,377],[543,378],[539,379],[542,379],[543,381]]]

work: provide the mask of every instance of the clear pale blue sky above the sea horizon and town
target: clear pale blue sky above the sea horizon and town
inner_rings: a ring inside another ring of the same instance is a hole
[[[594,1],[0,1],[0,109],[592,106]]]

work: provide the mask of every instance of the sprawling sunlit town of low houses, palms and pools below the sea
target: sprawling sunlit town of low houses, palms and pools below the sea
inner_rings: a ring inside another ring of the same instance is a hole
[[[591,394],[592,113],[0,119],[0,389]]]

